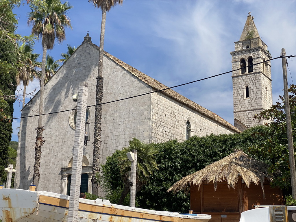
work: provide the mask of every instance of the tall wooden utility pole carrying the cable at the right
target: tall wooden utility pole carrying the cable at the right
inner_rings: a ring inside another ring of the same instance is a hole
[[[281,55],[286,55],[286,49],[281,49]],[[295,157],[292,137],[292,124],[290,114],[290,103],[289,103],[289,92],[288,92],[288,80],[287,80],[287,59],[282,58],[283,63],[283,76],[284,76],[284,96],[285,96],[285,112],[287,122],[287,136],[288,136],[288,149],[289,149],[289,163],[290,163],[290,174],[291,174],[291,186],[292,186],[292,197],[296,200],[296,171],[295,171]]]

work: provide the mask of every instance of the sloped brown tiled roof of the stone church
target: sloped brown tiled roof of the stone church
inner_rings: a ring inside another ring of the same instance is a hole
[[[99,47],[96,46],[95,44],[93,44],[91,42],[88,42],[88,43],[91,44],[92,46],[94,46],[96,49],[99,49]],[[154,78],[151,78],[150,76],[142,73],[141,71],[137,70],[136,68],[126,64],[125,62],[121,61],[120,59],[116,58],[115,56],[112,56],[108,52],[104,51],[104,54],[107,57],[109,57],[110,59],[112,59],[114,62],[116,62],[118,65],[120,65],[121,67],[123,67],[124,69],[129,71],[131,74],[133,74],[134,76],[139,78],[141,81],[143,81],[147,85],[151,86],[153,89],[161,90],[161,89],[168,88],[168,86],[165,86],[164,84],[160,83],[159,81],[155,80]],[[231,125],[229,122],[227,122],[226,120],[224,120],[223,118],[221,118],[217,114],[213,113],[210,110],[207,110],[206,108],[191,101],[190,99],[186,98],[185,96],[182,96],[181,94],[177,93],[176,91],[174,91],[172,89],[166,89],[161,92],[163,94],[175,99],[176,101],[192,108],[193,110],[196,110],[197,112],[209,117],[210,119],[215,120],[218,123],[221,123],[223,126],[226,126],[237,133],[241,133],[241,131],[238,128],[234,127],[233,125]]]

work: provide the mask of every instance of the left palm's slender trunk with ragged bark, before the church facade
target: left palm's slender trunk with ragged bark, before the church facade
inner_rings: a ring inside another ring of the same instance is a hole
[[[44,138],[42,133],[44,131],[44,126],[42,126],[43,119],[43,97],[44,97],[44,79],[45,79],[45,62],[46,62],[46,44],[43,46],[43,55],[42,55],[42,67],[41,67],[41,81],[40,81],[40,98],[39,98],[39,116],[38,116],[38,127],[36,128],[36,142],[35,142],[35,162],[34,162],[34,175],[33,175],[33,184],[36,185],[38,189],[39,179],[40,179],[40,160],[41,160],[41,147],[44,144]]]

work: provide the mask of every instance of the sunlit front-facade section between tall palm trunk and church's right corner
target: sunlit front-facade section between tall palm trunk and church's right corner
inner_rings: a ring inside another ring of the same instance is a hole
[[[144,94],[151,88],[127,70],[104,59],[103,102]],[[150,95],[103,104],[101,163],[117,149],[128,146],[137,137],[150,141]]]

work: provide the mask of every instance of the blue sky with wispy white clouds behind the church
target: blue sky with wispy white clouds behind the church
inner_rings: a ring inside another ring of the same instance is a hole
[[[67,44],[79,46],[88,30],[92,42],[99,45],[101,11],[87,0],[69,2],[74,6],[68,14],[73,29],[66,30],[62,44],[48,51],[56,60],[67,51]],[[296,55],[295,8],[296,1],[288,0],[124,0],[107,13],[104,50],[161,83],[175,86],[231,70],[229,52],[234,51],[249,11],[273,57],[280,55],[281,48],[287,55]],[[27,5],[14,9],[19,34],[30,34],[28,12]],[[42,54],[38,41],[35,53]],[[293,58],[288,64],[296,83]],[[271,72],[275,103],[283,94],[281,59],[271,61]],[[292,78],[288,70],[288,84]],[[38,82],[32,82],[27,92],[38,87]],[[174,90],[233,124],[231,73]],[[20,106],[15,103],[14,117],[20,117]],[[19,119],[13,121],[12,141],[18,141],[19,125]]]

